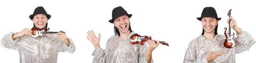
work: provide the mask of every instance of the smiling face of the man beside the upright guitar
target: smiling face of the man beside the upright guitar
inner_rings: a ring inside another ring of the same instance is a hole
[[[218,20],[215,17],[203,17],[201,22],[206,33],[214,33],[214,29],[218,24]]]

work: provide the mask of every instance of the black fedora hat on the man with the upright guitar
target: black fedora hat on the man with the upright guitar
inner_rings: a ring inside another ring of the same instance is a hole
[[[217,20],[221,20],[213,7],[205,7],[202,11],[201,17],[197,17],[197,19],[201,21],[203,17],[215,17]]]

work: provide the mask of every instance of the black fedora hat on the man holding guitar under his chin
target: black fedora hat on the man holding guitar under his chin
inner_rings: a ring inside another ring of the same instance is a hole
[[[29,18],[30,18],[31,20],[33,20],[33,18],[34,18],[34,16],[35,16],[36,14],[45,14],[45,15],[47,16],[48,20],[51,18],[51,15],[47,14],[47,12],[44,10],[44,7],[42,7],[42,6],[38,6],[38,7],[35,9],[34,13],[31,14],[31,15],[29,15]]]

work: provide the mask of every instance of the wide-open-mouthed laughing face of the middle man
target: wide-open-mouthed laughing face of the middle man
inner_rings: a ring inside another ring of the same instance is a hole
[[[114,26],[120,31],[120,33],[127,33],[130,26],[130,19],[127,15],[117,17],[114,22]]]

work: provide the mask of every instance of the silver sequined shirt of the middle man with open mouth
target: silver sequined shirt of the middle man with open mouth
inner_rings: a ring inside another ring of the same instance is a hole
[[[130,43],[130,37],[121,40],[118,35],[113,35],[108,39],[106,49],[99,47],[93,52],[93,63],[147,63],[147,44],[144,45]],[[151,59],[153,63],[153,59]]]

